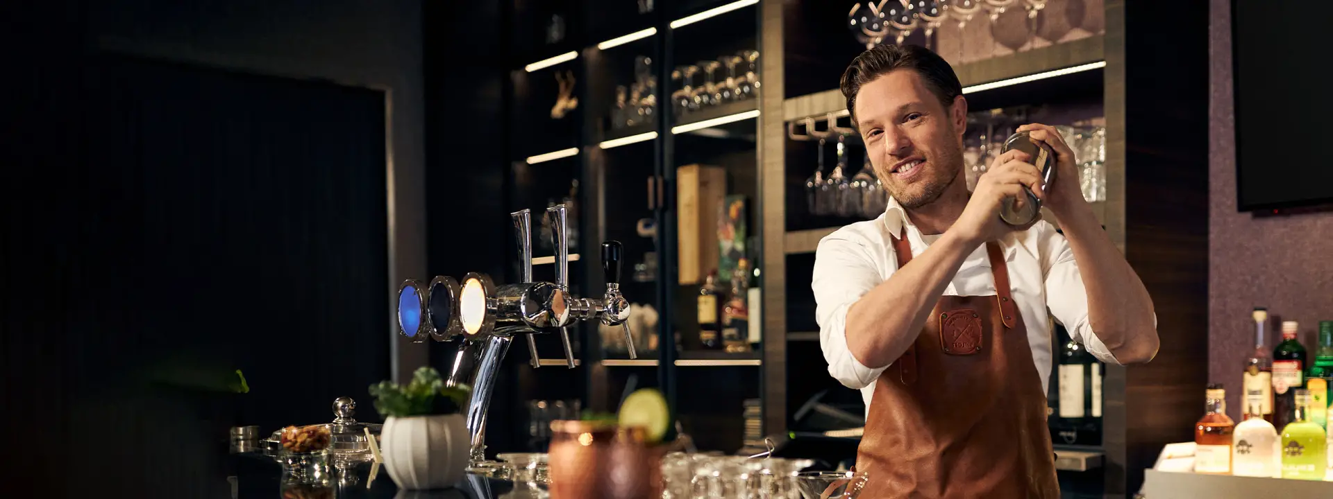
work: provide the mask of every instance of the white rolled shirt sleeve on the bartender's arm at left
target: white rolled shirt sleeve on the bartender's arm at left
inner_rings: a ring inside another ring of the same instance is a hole
[[[810,287],[814,290],[814,318],[820,325],[820,347],[829,374],[849,389],[864,389],[889,366],[868,367],[846,346],[846,311],[866,291],[884,282],[868,245],[838,233],[820,241],[814,251]]]

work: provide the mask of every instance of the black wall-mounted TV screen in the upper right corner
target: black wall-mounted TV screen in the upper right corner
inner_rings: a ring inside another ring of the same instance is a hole
[[[1242,212],[1333,204],[1330,23],[1330,1],[1232,0]]]

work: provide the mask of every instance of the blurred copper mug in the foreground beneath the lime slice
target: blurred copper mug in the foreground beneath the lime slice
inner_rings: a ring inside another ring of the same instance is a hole
[[[551,499],[661,498],[664,451],[645,435],[605,422],[551,422]]]

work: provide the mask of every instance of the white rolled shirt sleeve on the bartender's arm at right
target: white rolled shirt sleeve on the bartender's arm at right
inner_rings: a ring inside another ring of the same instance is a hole
[[[1046,281],[1046,307],[1069,337],[1088,349],[1101,362],[1121,365],[1088,322],[1088,289],[1084,287],[1078,262],[1069,241],[1056,228],[1044,224],[1040,237],[1041,270]],[[1156,318],[1154,318],[1156,321]]]

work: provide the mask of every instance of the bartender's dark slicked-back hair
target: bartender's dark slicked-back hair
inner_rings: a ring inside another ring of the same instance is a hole
[[[842,97],[846,98],[846,110],[852,113],[853,125],[856,96],[861,92],[861,85],[904,68],[921,75],[926,88],[940,98],[945,109],[953,104],[954,97],[962,94],[962,84],[958,83],[958,75],[953,73],[953,67],[930,49],[918,45],[878,45],[861,52],[842,72]]]

